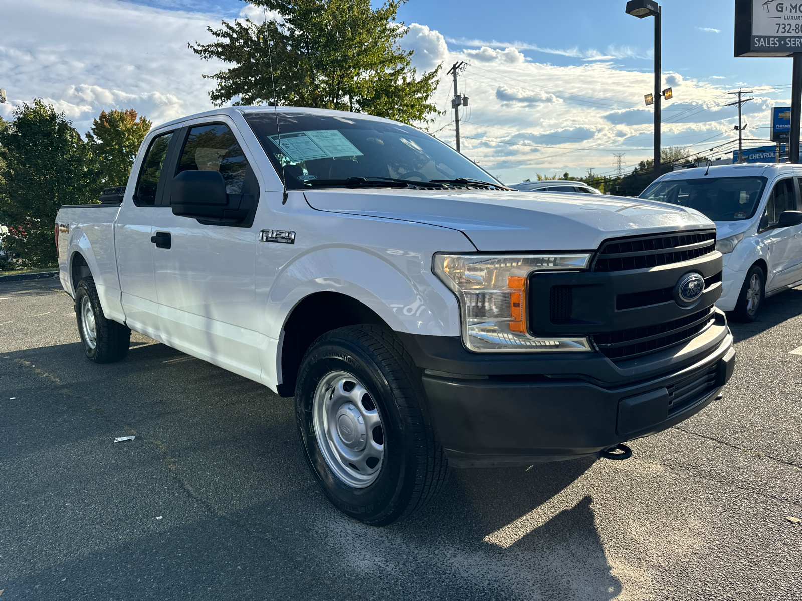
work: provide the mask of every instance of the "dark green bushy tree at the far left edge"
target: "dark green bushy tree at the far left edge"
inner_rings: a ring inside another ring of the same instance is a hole
[[[3,245],[26,267],[55,264],[59,207],[97,202],[88,144],[63,113],[34,99],[0,127],[0,161],[0,223],[10,231]]]

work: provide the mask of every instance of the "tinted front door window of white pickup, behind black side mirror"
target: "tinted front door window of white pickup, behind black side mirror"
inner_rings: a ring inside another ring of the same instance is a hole
[[[222,123],[189,130],[176,174],[181,171],[219,171],[227,194],[242,194],[248,160],[229,127]]]

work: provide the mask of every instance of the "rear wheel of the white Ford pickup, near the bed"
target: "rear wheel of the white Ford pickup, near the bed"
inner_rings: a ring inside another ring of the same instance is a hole
[[[89,309],[91,315],[87,315]],[[78,333],[83,342],[83,352],[92,361],[111,363],[128,355],[131,329],[117,321],[106,319],[95,289],[95,280],[91,277],[83,278],[75,287],[75,317],[78,320]],[[94,320],[94,329],[91,327],[91,319]],[[87,327],[84,327],[85,325]],[[92,331],[95,333],[94,339],[91,337]]]

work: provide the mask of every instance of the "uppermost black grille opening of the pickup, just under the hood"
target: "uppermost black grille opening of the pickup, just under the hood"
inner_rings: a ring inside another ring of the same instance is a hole
[[[602,245],[594,272],[622,272],[697,259],[715,250],[715,230],[618,238]]]

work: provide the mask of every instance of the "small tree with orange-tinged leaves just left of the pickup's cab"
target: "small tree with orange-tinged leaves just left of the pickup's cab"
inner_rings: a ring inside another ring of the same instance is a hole
[[[128,182],[136,153],[152,127],[144,116],[139,121],[136,116],[132,108],[103,111],[92,122],[87,140],[95,157],[100,188],[124,186]]]

